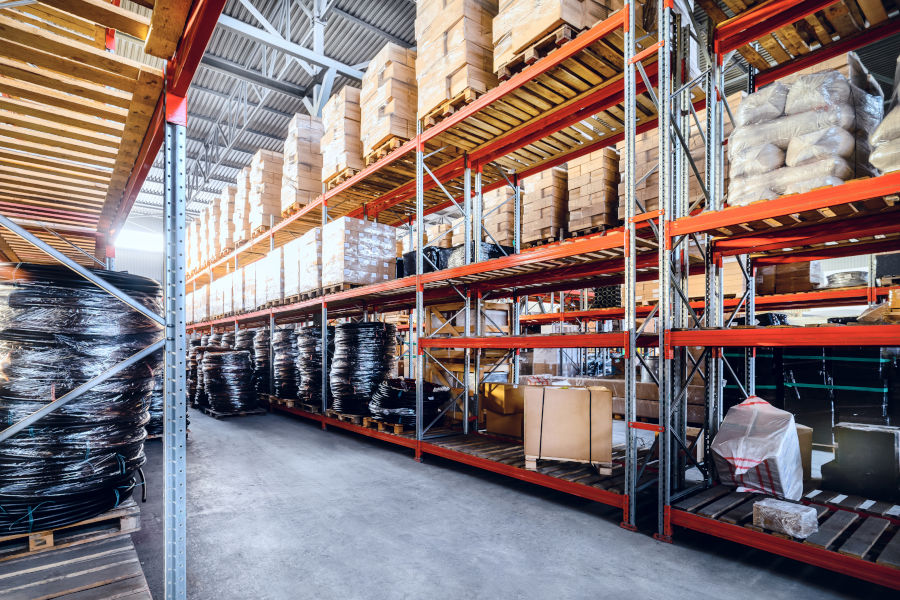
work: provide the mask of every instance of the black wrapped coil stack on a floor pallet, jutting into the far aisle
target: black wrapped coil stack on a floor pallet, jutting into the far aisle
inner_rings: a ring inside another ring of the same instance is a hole
[[[249,352],[210,351],[203,355],[203,386],[209,408],[220,414],[257,408]]]

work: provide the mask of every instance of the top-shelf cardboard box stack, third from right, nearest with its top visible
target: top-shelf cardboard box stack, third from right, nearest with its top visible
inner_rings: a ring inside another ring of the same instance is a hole
[[[366,164],[416,135],[416,52],[386,44],[369,62],[360,92]]]

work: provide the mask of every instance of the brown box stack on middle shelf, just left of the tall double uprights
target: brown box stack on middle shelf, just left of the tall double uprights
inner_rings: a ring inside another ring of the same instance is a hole
[[[619,224],[619,154],[603,148],[568,162],[569,233]]]

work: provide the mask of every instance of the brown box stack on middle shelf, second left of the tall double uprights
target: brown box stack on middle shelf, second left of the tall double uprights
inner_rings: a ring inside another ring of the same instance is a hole
[[[522,242],[559,238],[567,221],[565,168],[554,167],[527,177],[522,188]]]

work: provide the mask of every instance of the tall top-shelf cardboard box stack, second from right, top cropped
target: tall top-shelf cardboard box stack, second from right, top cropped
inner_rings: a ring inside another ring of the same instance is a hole
[[[497,0],[422,0],[416,3],[418,118],[446,100],[497,85],[492,21]]]

